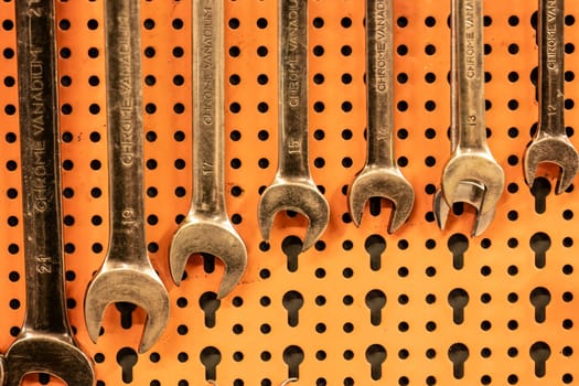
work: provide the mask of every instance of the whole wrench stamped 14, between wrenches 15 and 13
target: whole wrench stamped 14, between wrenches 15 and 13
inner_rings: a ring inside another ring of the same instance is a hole
[[[367,157],[349,201],[352,221],[360,226],[366,201],[388,199],[394,205],[389,233],[408,219],[415,201],[394,157],[393,45],[393,1],[366,0]]]

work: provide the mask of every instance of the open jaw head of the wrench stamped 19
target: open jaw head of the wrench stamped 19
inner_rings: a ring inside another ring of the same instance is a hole
[[[85,294],[85,322],[96,343],[105,310],[109,304],[129,302],[147,312],[139,353],[159,340],[169,320],[169,293],[152,267],[105,262]]]

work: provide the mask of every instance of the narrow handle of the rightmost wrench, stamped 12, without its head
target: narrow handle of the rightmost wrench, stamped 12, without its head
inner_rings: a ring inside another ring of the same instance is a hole
[[[564,0],[539,0],[539,136],[566,136]]]

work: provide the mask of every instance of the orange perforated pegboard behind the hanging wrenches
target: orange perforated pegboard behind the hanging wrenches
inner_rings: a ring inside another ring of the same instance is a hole
[[[13,3],[0,3],[4,351],[25,301]],[[297,385],[571,384],[579,337],[578,193],[571,187],[555,196],[553,181],[542,179],[534,196],[522,170],[537,121],[536,9],[536,1],[484,2],[486,125],[507,187],[491,227],[470,238],[474,216],[468,210],[443,232],[431,212],[450,154],[450,1],[394,3],[396,152],[417,196],[395,235],[386,234],[386,203],[372,203],[374,216],[367,210],[361,228],[347,214],[347,185],[366,151],[364,4],[310,1],[310,164],[331,222],[315,247],[297,256],[304,218],[278,215],[269,245],[256,218],[259,192],[277,162],[277,4],[226,0],[226,199],[249,261],[236,290],[218,302],[218,259],[193,257],[179,288],[167,262],[191,193],[191,4],[142,1],[147,238],[172,309],[161,340],[137,356],[141,310],[109,308],[96,345],[84,326],[84,293],[108,242],[103,1],[57,1],[67,305],[98,384],[205,385],[216,377],[218,385],[278,385],[288,376],[298,376]],[[579,119],[577,11],[577,2],[567,1],[570,136]],[[460,323],[453,305],[465,294]],[[449,356],[465,349],[460,377]],[[45,376],[28,378],[30,385],[47,383]]]

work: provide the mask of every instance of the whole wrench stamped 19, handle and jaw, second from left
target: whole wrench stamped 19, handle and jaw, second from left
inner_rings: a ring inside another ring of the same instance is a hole
[[[147,311],[139,352],[149,350],[169,320],[169,294],[144,238],[139,0],[105,1],[110,240],[85,297],[88,335],[96,342],[108,304]]]

